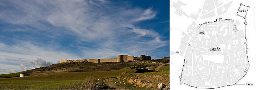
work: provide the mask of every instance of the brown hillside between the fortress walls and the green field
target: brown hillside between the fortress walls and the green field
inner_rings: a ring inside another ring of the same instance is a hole
[[[89,71],[109,71],[109,70],[119,70],[127,69],[133,66],[144,65],[146,67],[157,66],[158,63],[149,62],[149,61],[132,61],[132,62],[111,62],[111,63],[88,63],[88,62],[73,62],[73,63],[58,63],[52,64],[46,67],[40,67],[36,69],[31,69],[27,71],[30,76],[34,75],[43,75],[43,74],[54,74],[62,72],[89,72]],[[0,78],[8,77],[19,77],[20,73],[12,74],[2,74]]]

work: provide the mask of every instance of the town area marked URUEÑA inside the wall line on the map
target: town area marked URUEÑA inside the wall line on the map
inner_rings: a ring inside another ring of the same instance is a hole
[[[184,57],[180,84],[196,88],[234,85],[249,68],[245,28],[238,21],[205,22],[184,35],[180,48]]]

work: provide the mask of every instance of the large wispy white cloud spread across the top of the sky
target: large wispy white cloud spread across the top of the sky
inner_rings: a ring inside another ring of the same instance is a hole
[[[73,35],[83,37],[82,40],[91,41],[111,39],[115,36],[114,33],[127,32],[122,30],[125,28],[122,25],[133,26],[134,21],[153,19],[157,15],[153,7],[127,9],[108,6],[107,2],[104,0],[11,1],[15,12],[9,9],[0,11],[0,19],[12,24],[36,28],[46,27],[41,22],[46,21],[54,26],[71,30]]]

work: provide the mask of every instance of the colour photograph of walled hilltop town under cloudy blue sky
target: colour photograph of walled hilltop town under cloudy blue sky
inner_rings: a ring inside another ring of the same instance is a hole
[[[0,0],[0,90],[170,89],[168,0]]]

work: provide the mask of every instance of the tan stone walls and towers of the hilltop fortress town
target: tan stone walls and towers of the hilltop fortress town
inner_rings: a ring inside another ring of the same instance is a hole
[[[60,60],[60,63],[66,62],[92,62],[92,63],[103,63],[103,62],[130,62],[137,60],[151,60],[151,56],[140,55],[139,57],[128,56],[128,55],[117,55],[117,58],[103,58],[103,59],[85,59],[82,60]]]

